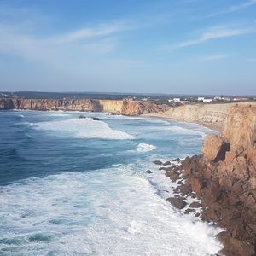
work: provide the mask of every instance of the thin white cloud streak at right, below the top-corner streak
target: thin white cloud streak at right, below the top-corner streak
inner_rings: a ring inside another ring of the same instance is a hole
[[[217,38],[232,38],[236,36],[240,36],[243,34],[247,34],[249,32],[253,32],[252,28],[224,28],[224,27],[215,27],[209,29],[207,32],[203,32],[198,38],[183,41],[178,44],[166,45],[163,49],[166,50],[175,50],[182,49],[189,46],[193,46],[196,44],[202,44],[207,41],[217,39]]]

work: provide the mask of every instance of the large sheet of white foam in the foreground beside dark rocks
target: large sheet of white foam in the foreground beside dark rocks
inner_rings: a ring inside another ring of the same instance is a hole
[[[218,230],[181,215],[134,170],[62,173],[3,187],[0,237],[24,240],[18,248],[26,255],[205,256],[222,248],[213,238]],[[29,241],[35,234],[53,239]]]

